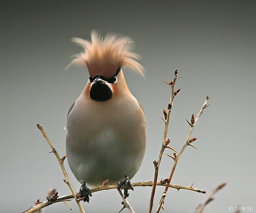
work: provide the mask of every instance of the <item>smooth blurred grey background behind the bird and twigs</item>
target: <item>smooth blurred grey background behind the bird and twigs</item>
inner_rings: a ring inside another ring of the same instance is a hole
[[[0,203],[1,212],[22,212],[49,188],[70,194],[63,174],[42,134],[39,122],[61,156],[65,154],[65,120],[88,79],[85,67],[65,70],[80,48],[71,37],[90,39],[90,31],[122,33],[137,43],[146,79],[124,70],[127,84],[144,108],[147,150],[133,182],[153,179],[172,80],[179,69],[181,88],[171,115],[171,146],[183,146],[189,126],[205,97],[210,107],[192,137],[199,150],[188,147],[177,165],[173,184],[207,190],[227,186],[205,212],[234,212],[229,206],[255,202],[255,1],[1,1],[0,11]],[[166,151],[172,154],[170,151]],[[68,168],[75,189],[80,184]],[[167,178],[172,160],[163,156],[159,179]],[[164,188],[156,191],[158,205]],[[147,212],[151,188],[135,188],[129,202]],[[166,212],[195,212],[207,195],[168,191]],[[75,201],[68,202],[78,212]],[[94,193],[86,212],[118,212],[115,190]],[[44,212],[70,212],[58,203]],[[123,212],[128,212],[124,210]]]

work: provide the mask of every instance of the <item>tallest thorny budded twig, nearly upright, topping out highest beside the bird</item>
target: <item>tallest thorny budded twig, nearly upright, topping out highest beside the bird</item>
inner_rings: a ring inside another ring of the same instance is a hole
[[[164,153],[164,149],[167,148],[168,143],[167,143],[167,133],[168,133],[168,126],[169,126],[169,122],[170,122],[170,115],[171,115],[171,110],[172,110],[172,104],[174,101],[174,97],[175,95],[177,95],[177,93],[180,91],[177,90],[176,92],[174,92],[174,86],[175,86],[175,82],[177,78],[180,78],[177,76],[177,69],[174,72],[174,80],[172,82],[167,82],[166,80],[163,80],[165,83],[167,83],[168,85],[171,86],[172,88],[172,92],[171,92],[171,99],[170,99],[170,103],[168,104],[168,111],[166,112],[166,110],[164,110],[164,118],[162,118],[164,120],[165,123],[165,127],[164,127],[164,137],[163,137],[163,143],[162,143],[162,147],[158,156],[158,161],[154,161],[154,167],[155,167],[155,174],[154,174],[154,184],[152,186],[152,191],[151,191],[151,197],[150,197],[150,204],[149,204],[149,208],[148,208],[148,213],[152,212],[152,208],[154,205],[154,197],[155,197],[155,189],[156,189],[156,182],[158,181],[158,172],[159,172],[159,167],[160,167],[160,163],[162,160],[162,156]]]

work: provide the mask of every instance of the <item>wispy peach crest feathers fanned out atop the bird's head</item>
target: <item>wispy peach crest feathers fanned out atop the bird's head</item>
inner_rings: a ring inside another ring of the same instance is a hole
[[[84,66],[88,67],[91,74],[102,67],[108,69],[118,69],[118,67],[126,66],[130,69],[139,71],[143,75],[143,66],[137,61],[139,55],[132,52],[134,41],[129,37],[108,34],[102,37],[96,31],[91,33],[92,41],[87,41],[77,37],[73,37],[71,41],[84,48],[84,51],[73,56],[68,66]]]

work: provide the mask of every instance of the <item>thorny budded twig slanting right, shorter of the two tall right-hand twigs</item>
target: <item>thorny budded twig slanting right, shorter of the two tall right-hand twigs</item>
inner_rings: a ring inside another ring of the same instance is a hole
[[[194,126],[195,126],[197,120],[199,119],[199,117],[200,117],[201,114],[203,113],[203,110],[209,106],[209,105],[207,105],[208,101],[209,101],[209,96],[207,96],[207,98],[205,99],[204,104],[203,104],[203,107],[200,109],[199,113],[197,114],[196,119],[194,118],[194,115],[192,114],[191,123],[188,122],[188,123],[189,123],[189,126],[191,126],[191,127],[190,127],[190,130],[189,130],[189,133],[188,133],[187,140],[186,140],[184,146],[181,148],[181,151],[179,152],[179,155],[177,155],[177,156],[175,155],[175,157],[173,158],[173,159],[174,159],[174,165],[172,166],[172,171],[171,171],[170,177],[168,178],[168,182],[167,182],[166,188],[164,189],[164,192],[163,192],[163,194],[162,194],[162,198],[160,199],[158,208],[157,208],[157,210],[156,210],[157,213],[159,213],[160,210],[161,210],[161,208],[163,208],[164,199],[166,198],[167,191],[168,191],[170,182],[171,182],[171,180],[172,180],[172,177],[173,177],[173,175],[174,175],[177,162],[178,162],[179,159],[180,159],[180,156],[183,154],[183,152],[184,152],[184,150],[185,150],[185,148],[186,148],[187,146],[192,146],[192,147],[196,148],[195,146],[193,146],[193,145],[191,144],[193,141],[196,140],[196,138],[190,139],[191,133],[192,133],[192,130],[193,130],[193,128],[194,128]]]

